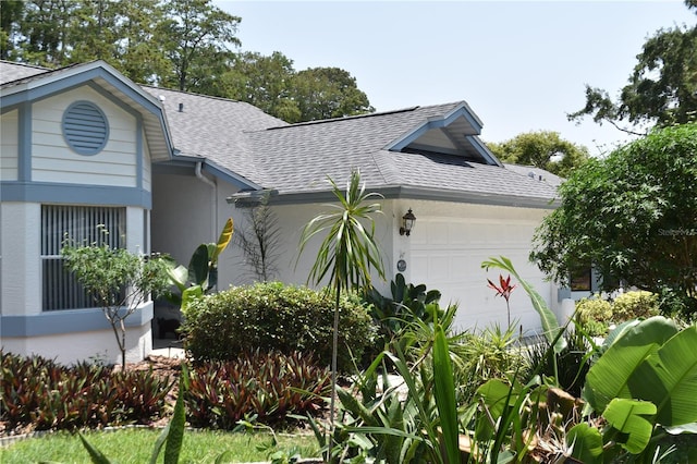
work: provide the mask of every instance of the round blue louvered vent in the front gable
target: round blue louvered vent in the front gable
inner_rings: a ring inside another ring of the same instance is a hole
[[[109,139],[107,115],[95,103],[76,101],[63,113],[63,137],[80,155],[97,155]]]

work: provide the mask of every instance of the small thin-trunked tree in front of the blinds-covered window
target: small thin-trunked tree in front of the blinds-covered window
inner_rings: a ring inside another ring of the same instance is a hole
[[[105,229],[101,232],[109,233]],[[112,248],[105,240],[84,245],[75,244],[70,237],[66,237],[61,255],[65,268],[93,295],[109,320],[125,369],[125,320],[150,295],[157,297],[166,292],[169,286],[166,260]]]

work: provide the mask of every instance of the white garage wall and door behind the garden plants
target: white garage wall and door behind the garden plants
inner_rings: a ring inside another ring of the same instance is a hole
[[[458,304],[456,329],[484,329],[493,323],[505,327],[505,301],[494,297],[493,290],[487,286],[487,279],[498,282],[500,271],[481,269],[484,260],[505,256],[547,304],[558,309],[555,285],[545,281],[539,269],[528,262],[533,233],[547,210],[406,199],[386,199],[381,204],[375,236],[381,247],[387,281],[375,276],[374,284],[382,294],[390,294],[390,281],[400,272],[398,262],[403,260],[406,269],[402,273],[407,282],[439,290],[443,306]],[[409,208],[417,217],[416,227],[411,236],[400,235],[402,216]],[[235,228],[243,228],[244,209],[231,206],[231,210]],[[272,206],[272,210],[283,228],[277,279],[305,284],[323,235],[314,240],[298,259],[299,237],[304,225],[327,208],[306,204]],[[232,247],[229,259],[234,264],[227,267],[233,284],[254,280],[247,269],[239,266],[244,262],[239,246]],[[541,329],[539,317],[521,288],[511,297],[511,319],[522,325],[526,334]]]

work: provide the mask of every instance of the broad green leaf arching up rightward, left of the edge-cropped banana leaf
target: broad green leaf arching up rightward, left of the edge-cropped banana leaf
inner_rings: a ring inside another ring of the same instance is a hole
[[[627,386],[629,378],[676,332],[675,323],[660,316],[625,330],[588,370],[584,399],[601,412],[614,398],[633,398]]]

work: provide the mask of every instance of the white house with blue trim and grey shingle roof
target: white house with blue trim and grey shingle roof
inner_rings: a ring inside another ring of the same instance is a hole
[[[333,200],[328,176],[342,185],[352,169],[383,196],[376,236],[389,278],[402,272],[458,303],[460,328],[505,325],[505,304],[486,285],[498,271],[480,268],[491,256],[511,258],[558,306],[558,289],[527,256],[559,179],[502,164],[464,101],[291,125],[248,103],[136,85],[101,61],[60,70],[0,62],[0,99],[7,351],[115,361],[108,322],[81,300],[58,256],[64,232],[89,239],[98,223],[114,246],[187,262],[228,217],[244,228],[248,208],[271,192],[281,231],[274,278],[305,283],[317,248],[298,259],[302,228]],[[401,234],[408,210],[416,225]],[[240,251],[225,252],[219,289],[248,280]],[[527,296],[511,306],[526,333],[540,329]],[[131,361],[151,350],[156,310],[168,312],[148,302],[127,319]]]

